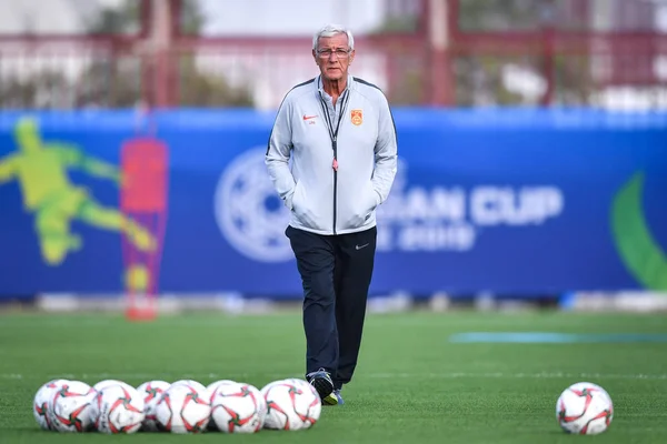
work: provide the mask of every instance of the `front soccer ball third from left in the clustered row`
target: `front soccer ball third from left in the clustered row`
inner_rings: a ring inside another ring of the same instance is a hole
[[[107,385],[96,395],[93,415],[98,432],[135,433],[143,422],[143,397],[127,384]]]

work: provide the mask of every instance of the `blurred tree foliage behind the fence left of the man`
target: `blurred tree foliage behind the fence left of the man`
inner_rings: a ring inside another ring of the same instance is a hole
[[[198,34],[205,17],[195,0],[183,0],[179,18],[183,33]],[[140,2],[125,0],[116,8],[103,8],[88,19],[87,33],[108,42],[90,58],[73,58],[86,63],[68,74],[58,69],[19,71],[0,79],[0,107],[31,109],[131,108],[156,97],[155,58],[129,52],[113,44],[113,37],[135,34],[140,28]],[[86,60],[88,59],[88,60]],[[30,61],[29,63],[37,63]],[[170,53],[169,67],[178,82],[176,105],[252,107],[247,88],[232,88],[219,73],[198,64],[196,53]]]

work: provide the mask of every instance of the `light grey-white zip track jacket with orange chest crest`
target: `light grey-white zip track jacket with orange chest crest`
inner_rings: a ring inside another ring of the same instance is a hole
[[[266,164],[291,226],[318,234],[375,226],[397,169],[387,98],[351,75],[336,108],[320,77],[296,85],[278,110]]]

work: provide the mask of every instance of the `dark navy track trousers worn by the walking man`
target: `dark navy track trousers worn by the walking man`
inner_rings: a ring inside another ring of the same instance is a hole
[[[286,235],[303,284],[306,374],[325,369],[340,389],[357,366],[377,229],[321,235],[288,226]]]

